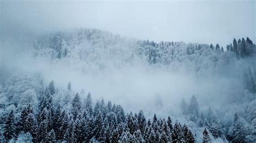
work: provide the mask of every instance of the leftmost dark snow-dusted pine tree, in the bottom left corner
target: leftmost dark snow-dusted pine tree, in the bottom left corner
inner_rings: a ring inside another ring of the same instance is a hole
[[[3,135],[5,140],[9,141],[10,139],[16,138],[14,110],[10,111],[8,118],[5,121],[3,129]]]

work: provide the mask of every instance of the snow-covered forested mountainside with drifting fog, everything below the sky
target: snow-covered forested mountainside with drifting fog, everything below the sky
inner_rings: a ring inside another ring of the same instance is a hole
[[[1,67],[2,141],[256,141],[248,37],[223,47],[79,28],[25,46]]]

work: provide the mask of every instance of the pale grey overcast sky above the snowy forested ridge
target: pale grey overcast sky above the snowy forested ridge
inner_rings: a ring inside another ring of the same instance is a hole
[[[32,2],[1,1],[1,33],[99,28],[154,41],[224,46],[256,42],[255,1]]]

